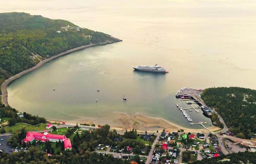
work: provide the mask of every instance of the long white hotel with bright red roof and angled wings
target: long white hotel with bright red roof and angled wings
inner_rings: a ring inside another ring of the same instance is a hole
[[[37,132],[27,132],[26,138],[23,142],[33,142],[34,140],[40,140],[42,142],[50,141],[50,142],[57,142],[61,141],[64,142],[64,149],[71,149],[71,141],[65,135],[58,135],[58,134],[50,134],[47,133],[46,130],[44,133],[37,133]]]

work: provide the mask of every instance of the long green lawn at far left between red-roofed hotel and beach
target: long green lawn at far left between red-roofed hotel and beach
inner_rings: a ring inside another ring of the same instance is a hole
[[[11,133],[11,132],[20,130],[20,129],[22,129],[22,128],[25,128],[26,131],[44,130],[46,126],[47,126],[46,124],[27,125],[27,124],[19,123],[19,124],[16,124],[16,125],[14,125],[14,126],[9,126],[9,127],[7,127],[7,128],[4,128],[4,129],[5,129],[5,131],[6,131],[7,133]]]

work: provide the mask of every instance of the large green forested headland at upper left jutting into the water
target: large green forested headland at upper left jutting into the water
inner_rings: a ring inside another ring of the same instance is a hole
[[[65,20],[28,13],[0,13],[0,84],[40,60],[90,43],[118,42]]]

